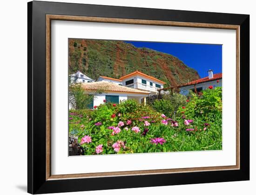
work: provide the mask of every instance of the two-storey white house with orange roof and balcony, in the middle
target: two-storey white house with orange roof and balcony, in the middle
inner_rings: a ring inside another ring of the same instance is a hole
[[[134,71],[128,75],[120,78],[122,85],[132,89],[138,89],[143,91],[149,91],[150,95],[157,94],[159,89],[163,88],[165,82],[148,76],[140,71]]]

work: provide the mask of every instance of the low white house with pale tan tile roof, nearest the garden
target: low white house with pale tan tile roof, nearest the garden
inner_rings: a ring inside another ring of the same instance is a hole
[[[92,109],[94,106],[98,106],[106,102],[111,102],[119,104],[121,101],[127,99],[135,99],[138,103],[144,102],[146,104],[146,97],[149,95],[150,91],[142,91],[138,89],[133,89],[125,86],[121,86],[116,83],[108,81],[97,81],[91,83],[82,84],[84,90],[88,92],[104,91],[99,93],[94,93],[93,101],[88,105],[88,108]]]

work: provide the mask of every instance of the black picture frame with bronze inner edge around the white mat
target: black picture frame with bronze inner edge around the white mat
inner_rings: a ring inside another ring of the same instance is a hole
[[[27,6],[28,193],[249,180],[249,15],[43,1]],[[236,30],[236,165],[52,175],[52,20]]]

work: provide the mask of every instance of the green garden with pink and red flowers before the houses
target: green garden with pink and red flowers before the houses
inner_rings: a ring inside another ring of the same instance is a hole
[[[222,88],[69,110],[69,154],[222,150]]]

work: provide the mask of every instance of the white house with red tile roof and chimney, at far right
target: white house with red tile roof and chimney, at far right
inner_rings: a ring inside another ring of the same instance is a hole
[[[200,92],[207,89],[209,86],[221,87],[222,86],[222,73],[213,74],[212,70],[208,71],[208,77],[200,78],[194,81],[191,81],[186,84],[179,86],[180,93],[182,95],[188,95],[189,90]]]

